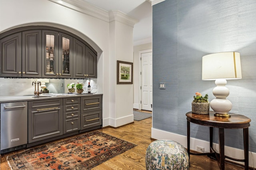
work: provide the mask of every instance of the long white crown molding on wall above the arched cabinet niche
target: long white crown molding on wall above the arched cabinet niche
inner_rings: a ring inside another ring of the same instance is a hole
[[[56,4],[65,6],[66,8],[70,8],[77,12],[81,12],[82,14],[86,14],[100,20],[109,22],[108,11],[98,8],[86,1],[81,0],[49,0]]]

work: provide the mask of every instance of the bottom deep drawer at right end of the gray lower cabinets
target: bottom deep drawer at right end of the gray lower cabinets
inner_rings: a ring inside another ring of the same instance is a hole
[[[102,125],[102,111],[81,113],[81,130]]]

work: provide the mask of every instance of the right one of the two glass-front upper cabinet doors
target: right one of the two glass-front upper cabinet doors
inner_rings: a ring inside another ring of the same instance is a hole
[[[60,78],[73,77],[73,38],[64,33],[59,33],[59,72]]]

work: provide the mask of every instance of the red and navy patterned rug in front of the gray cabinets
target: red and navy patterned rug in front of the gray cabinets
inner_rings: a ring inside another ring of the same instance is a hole
[[[12,170],[88,170],[135,147],[133,143],[94,131],[59,143],[8,156]]]

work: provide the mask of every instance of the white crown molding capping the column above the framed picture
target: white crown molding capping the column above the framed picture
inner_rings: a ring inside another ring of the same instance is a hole
[[[138,20],[126,15],[119,10],[112,10],[109,12],[109,22],[112,21],[119,21],[131,27],[134,27],[134,24],[138,22]]]

